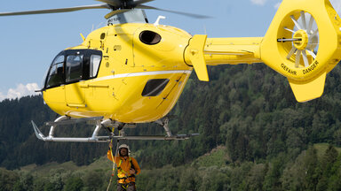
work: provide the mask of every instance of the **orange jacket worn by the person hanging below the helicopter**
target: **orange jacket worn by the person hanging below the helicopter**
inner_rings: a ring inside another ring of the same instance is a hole
[[[111,161],[113,161],[113,157],[111,157],[111,151],[107,151],[107,158]],[[134,166],[135,175],[139,174],[141,172],[141,169],[139,168],[139,164],[133,157],[114,157],[115,158],[115,164],[117,166],[117,177],[118,177],[118,183],[121,184],[127,184],[130,182],[135,182],[135,176],[129,172],[129,170],[132,168],[131,164]]]

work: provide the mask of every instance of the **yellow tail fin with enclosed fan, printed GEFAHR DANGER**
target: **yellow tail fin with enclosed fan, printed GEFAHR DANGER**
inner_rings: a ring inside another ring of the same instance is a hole
[[[261,60],[288,78],[298,102],[320,97],[341,60],[340,30],[329,0],[284,0],[261,42]]]

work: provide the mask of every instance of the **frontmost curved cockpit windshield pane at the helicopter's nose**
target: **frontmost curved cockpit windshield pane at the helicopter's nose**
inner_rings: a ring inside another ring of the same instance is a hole
[[[46,80],[46,88],[52,88],[64,83],[64,55],[56,57],[50,67]]]

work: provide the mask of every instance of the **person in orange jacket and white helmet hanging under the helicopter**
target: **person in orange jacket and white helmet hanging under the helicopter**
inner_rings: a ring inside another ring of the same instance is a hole
[[[109,144],[110,148],[113,148],[112,143]],[[135,187],[135,175],[141,172],[139,164],[135,158],[129,156],[130,149],[126,144],[120,145],[118,148],[118,157],[115,157],[115,153],[111,153],[109,149],[107,151],[107,158],[113,161],[115,158],[115,164],[117,166],[117,191],[136,191]]]

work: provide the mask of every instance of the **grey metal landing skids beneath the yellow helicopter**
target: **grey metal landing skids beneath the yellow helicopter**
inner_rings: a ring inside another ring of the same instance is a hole
[[[54,137],[54,130],[58,125],[69,125],[69,124],[76,124],[84,121],[94,121],[96,123],[96,128],[92,133],[91,137]],[[103,117],[96,117],[96,118],[79,118],[73,119],[67,116],[61,116],[57,118],[54,122],[47,122],[45,123],[46,126],[50,127],[50,133],[48,136],[45,136],[39,128],[36,126],[35,122],[31,121],[33,129],[35,130],[36,137],[42,141],[73,141],[73,142],[109,142],[112,139],[117,140],[187,140],[193,136],[197,136],[199,134],[171,134],[171,130],[168,126],[169,118],[162,118],[155,123],[163,126],[164,130],[166,131],[165,136],[162,135],[147,135],[147,136],[127,136],[123,132],[124,126],[134,126],[134,124],[123,124],[117,121],[112,121],[111,119],[103,119]],[[135,125],[136,126],[136,125]],[[119,135],[115,135],[112,133],[109,136],[99,136],[99,130],[102,127],[117,127],[122,133]]]

